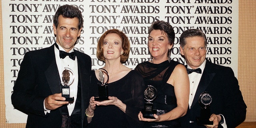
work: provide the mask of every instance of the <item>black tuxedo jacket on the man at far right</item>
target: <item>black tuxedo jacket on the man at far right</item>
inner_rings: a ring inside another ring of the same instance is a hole
[[[180,118],[182,128],[205,128],[196,123],[196,117],[200,116],[201,111],[198,98],[203,92],[208,92],[212,96],[210,115],[222,114],[228,128],[235,128],[244,121],[246,104],[233,70],[206,60],[191,108],[188,107],[187,114]],[[219,124],[218,128],[222,126]]]

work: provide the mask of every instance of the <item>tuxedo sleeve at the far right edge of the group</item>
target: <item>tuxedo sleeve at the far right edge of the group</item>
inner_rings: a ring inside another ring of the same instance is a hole
[[[246,104],[244,103],[242,93],[239,89],[238,80],[234,76],[231,68],[223,72],[223,92],[224,110],[220,114],[225,117],[228,128],[235,128],[245,120]]]

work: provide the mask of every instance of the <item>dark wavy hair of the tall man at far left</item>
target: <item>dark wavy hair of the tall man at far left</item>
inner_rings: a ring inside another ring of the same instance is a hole
[[[64,18],[78,18],[78,29],[80,30],[80,28],[83,27],[84,20],[82,12],[77,7],[68,4],[60,6],[53,17],[53,24],[56,27],[58,27],[58,19],[60,15]]]

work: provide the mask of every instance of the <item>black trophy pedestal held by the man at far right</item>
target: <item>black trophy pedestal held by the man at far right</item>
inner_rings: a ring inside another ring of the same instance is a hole
[[[210,118],[210,109],[209,108],[202,108],[200,117],[196,118],[197,124],[199,125],[213,125],[213,121],[209,121]]]

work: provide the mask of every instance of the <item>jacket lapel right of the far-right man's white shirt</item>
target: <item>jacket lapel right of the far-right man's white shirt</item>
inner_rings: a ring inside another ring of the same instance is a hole
[[[194,96],[191,108],[198,102],[199,96],[205,91],[207,86],[212,81],[212,78],[215,76],[214,72],[210,72],[211,70],[212,70],[211,66],[209,65],[208,62],[206,62],[206,66],[204,68],[204,72],[202,74],[201,80],[196,89],[196,94]]]

